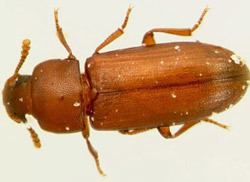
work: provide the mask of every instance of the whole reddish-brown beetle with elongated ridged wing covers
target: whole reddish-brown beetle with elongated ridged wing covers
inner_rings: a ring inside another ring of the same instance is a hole
[[[102,175],[89,140],[89,123],[97,130],[127,135],[156,128],[165,138],[175,138],[201,121],[227,128],[209,117],[246,93],[250,74],[243,60],[220,46],[198,41],[157,44],[154,39],[154,33],[191,36],[207,11],[192,28],[154,28],[145,33],[142,46],[100,53],[123,34],[130,7],[121,28],[87,58],[81,73],[55,10],[57,35],[69,56],[44,61],[32,75],[20,75],[31,43],[25,39],[20,61],[3,90],[8,115],[17,123],[27,123],[25,115],[33,115],[42,129],[54,133],[82,132]],[[172,134],[173,125],[183,126]],[[27,129],[34,145],[41,147],[34,129]]]

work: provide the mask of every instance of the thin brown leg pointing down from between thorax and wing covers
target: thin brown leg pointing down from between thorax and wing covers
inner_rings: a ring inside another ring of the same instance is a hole
[[[88,124],[88,117],[87,116],[84,117],[84,128],[83,128],[83,131],[82,131],[82,135],[86,140],[89,152],[91,153],[91,155],[95,159],[95,163],[96,163],[96,167],[97,167],[98,172],[101,175],[105,176],[105,173],[103,172],[103,170],[102,170],[102,168],[100,166],[98,153],[95,150],[95,148],[93,147],[93,145],[91,144],[91,142],[89,141],[89,124]]]

